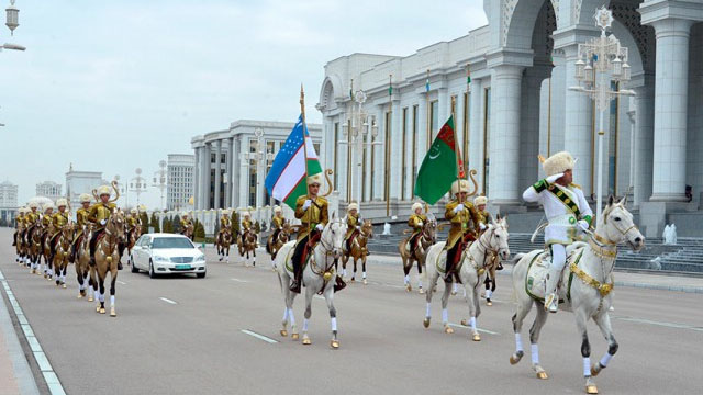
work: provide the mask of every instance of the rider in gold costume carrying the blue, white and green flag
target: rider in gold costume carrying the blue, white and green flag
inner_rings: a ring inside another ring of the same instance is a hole
[[[293,283],[290,290],[300,293],[300,279],[303,271],[303,262],[301,262],[303,250],[306,245],[314,245],[320,240],[322,229],[327,225],[327,200],[317,196],[320,185],[322,184],[322,174],[315,174],[308,178],[308,194],[298,198],[295,202],[295,218],[301,221],[298,230],[298,241],[295,242],[295,251],[293,252]]]

